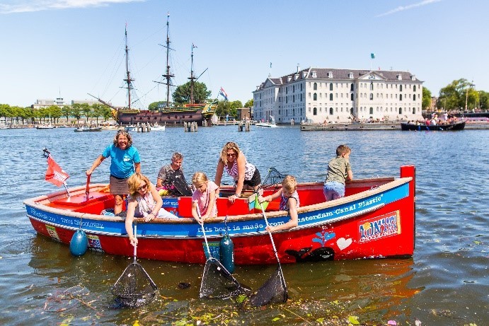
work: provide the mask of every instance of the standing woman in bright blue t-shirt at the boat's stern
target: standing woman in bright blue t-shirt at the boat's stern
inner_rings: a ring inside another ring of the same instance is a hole
[[[127,179],[141,170],[141,159],[136,147],[132,146],[131,135],[123,129],[117,131],[113,144],[105,148],[98,156],[86,175],[90,176],[105,158],[110,157],[110,194],[114,195],[114,214],[122,212],[122,203],[129,193]]]

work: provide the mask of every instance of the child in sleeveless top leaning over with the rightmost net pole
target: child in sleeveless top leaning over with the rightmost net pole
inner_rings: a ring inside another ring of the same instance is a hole
[[[294,228],[298,224],[297,220],[297,209],[300,206],[299,194],[297,193],[297,181],[292,175],[286,175],[284,180],[282,180],[282,188],[277,192],[270,194],[265,197],[258,197],[258,201],[261,202],[272,202],[273,199],[280,197],[281,211],[289,211],[290,220],[287,223],[280,224],[277,226],[267,226],[265,230],[273,232],[279,230],[287,230],[288,228]]]

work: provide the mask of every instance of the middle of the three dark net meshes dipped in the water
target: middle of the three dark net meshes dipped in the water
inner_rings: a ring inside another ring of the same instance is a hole
[[[248,291],[251,289],[236,281],[219,260],[212,257],[207,260],[200,285],[200,298],[226,299]]]

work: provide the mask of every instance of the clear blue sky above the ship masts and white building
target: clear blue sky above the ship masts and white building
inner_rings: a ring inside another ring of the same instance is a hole
[[[489,92],[487,0],[0,0],[0,103],[91,93],[127,105],[126,25],[133,106],[166,100],[155,81],[168,13],[173,84],[188,81],[194,44],[213,98],[222,87],[244,104],[297,66],[410,71],[434,96],[459,78]]]

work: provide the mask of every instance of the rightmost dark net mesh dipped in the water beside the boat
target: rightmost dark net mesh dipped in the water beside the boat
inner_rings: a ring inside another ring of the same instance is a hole
[[[270,303],[287,302],[287,286],[280,265],[260,289],[250,296],[250,304],[259,307]]]

